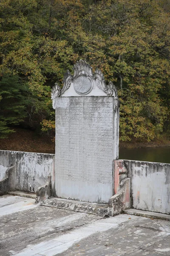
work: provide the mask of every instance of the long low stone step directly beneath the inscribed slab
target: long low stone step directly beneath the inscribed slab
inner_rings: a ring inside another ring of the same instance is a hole
[[[39,205],[54,207],[58,209],[67,209],[75,212],[85,212],[94,215],[112,215],[112,208],[108,204],[96,204],[82,201],[67,200],[62,198],[49,198],[42,200]]]

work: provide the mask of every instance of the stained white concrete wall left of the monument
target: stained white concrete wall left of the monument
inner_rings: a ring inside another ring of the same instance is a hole
[[[48,181],[48,175],[51,175],[54,186],[54,154],[1,150],[0,180],[10,166],[16,166],[17,190],[35,192]]]

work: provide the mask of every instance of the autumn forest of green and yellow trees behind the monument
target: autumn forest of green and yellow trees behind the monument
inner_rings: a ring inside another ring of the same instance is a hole
[[[79,59],[116,85],[121,141],[170,139],[169,0],[1,0],[0,138],[53,138],[51,88]]]

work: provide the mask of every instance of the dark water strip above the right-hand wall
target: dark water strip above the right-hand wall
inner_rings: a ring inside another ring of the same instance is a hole
[[[119,148],[119,159],[170,163],[170,147],[164,148]]]

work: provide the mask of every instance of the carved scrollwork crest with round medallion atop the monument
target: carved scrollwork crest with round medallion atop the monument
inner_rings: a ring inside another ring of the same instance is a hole
[[[93,73],[92,67],[90,67],[86,61],[77,61],[74,65],[74,75],[72,76],[71,73],[67,71],[63,82],[64,85],[62,89],[55,83],[51,91],[51,99],[53,101],[56,97],[62,96],[72,84],[76,93],[82,96],[90,93],[96,85],[96,87],[104,91],[107,96],[113,96],[115,99],[118,99],[117,90],[114,84],[109,82],[109,84],[106,85],[101,70],[96,69],[95,73]]]

